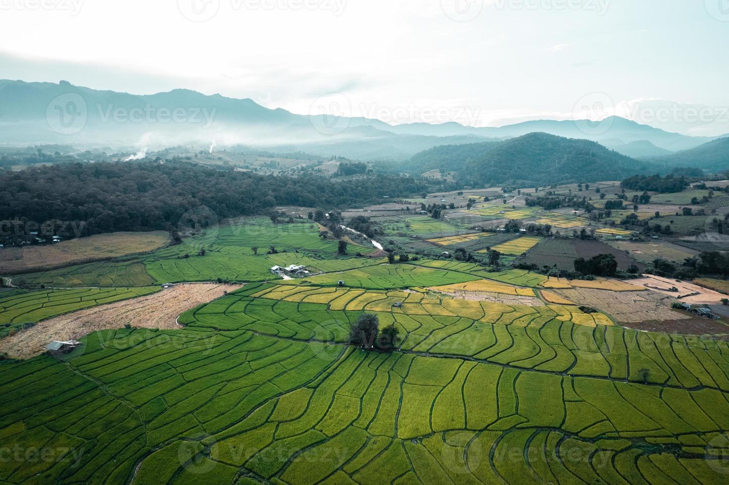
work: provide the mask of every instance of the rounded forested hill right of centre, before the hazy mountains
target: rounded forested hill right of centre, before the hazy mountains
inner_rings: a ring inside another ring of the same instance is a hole
[[[439,146],[410,160],[413,173],[423,173],[426,170],[413,166],[414,161],[427,170],[457,170],[457,178],[472,186],[622,180],[659,171],[651,162],[625,157],[594,141],[547,133],[529,133],[500,143]]]

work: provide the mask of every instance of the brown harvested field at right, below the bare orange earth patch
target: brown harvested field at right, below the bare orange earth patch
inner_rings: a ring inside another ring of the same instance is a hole
[[[652,320],[685,320],[687,315],[674,312],[676,299],[655,291],[606,291],[595,288],[553,290],[569,301],[599,309],[619,323],[639,323]]]

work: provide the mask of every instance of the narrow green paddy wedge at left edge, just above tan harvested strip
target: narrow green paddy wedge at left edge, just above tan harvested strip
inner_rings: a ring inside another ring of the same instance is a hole
[[[0,337],[13,329],[79,309],[149,295],[161,288],[79,288],[28,291],[11,296],[0,293]]]

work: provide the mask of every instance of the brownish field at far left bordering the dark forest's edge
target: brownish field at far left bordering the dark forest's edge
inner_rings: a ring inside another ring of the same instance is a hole
[[[0,249],[0,273],[17,275],[147,253],[163,247],[169,240],[169,234],[165,231],[112,232],[53,245]]]

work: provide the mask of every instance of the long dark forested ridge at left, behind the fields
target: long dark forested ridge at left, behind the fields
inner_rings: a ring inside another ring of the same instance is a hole
[[[277,205],[345,208],[419,194],[415,178],[373,175],[261,176],[188,162],[73,163],[0,172],[0,221],[84,221],[85,235],[171,229],[204,205],[217,218],[265,213]]]

